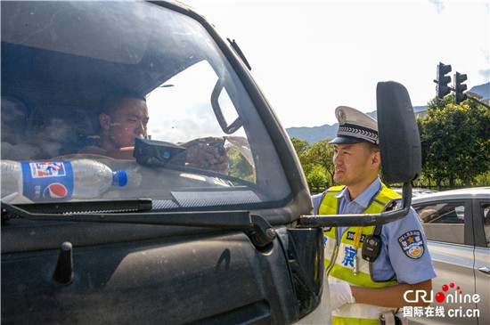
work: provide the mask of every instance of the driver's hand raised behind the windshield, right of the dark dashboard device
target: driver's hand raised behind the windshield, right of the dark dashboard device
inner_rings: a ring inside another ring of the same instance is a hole
[[[185,166],[207,169],[218,173],[226,172],[228,169],[227,148],[224,148],[220,154],[215,146],[209,145],[210,143],[224,141],[223,137],[209,136],[180,143],[181,146],[187,149]]]

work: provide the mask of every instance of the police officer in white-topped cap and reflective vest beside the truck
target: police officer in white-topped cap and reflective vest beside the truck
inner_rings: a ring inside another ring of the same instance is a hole
[[[339,131],[330,143],[334,145],[334,181],[342,186],[314,195],[314,213],[373,214],[393,207],[400,196],[380,181],[376,120],[345,106],[338,107],[335,114]],[[361,255],[370,235],[380,239],[379,255],[371,262]],[[399,308],[403,312],[404,306],[429,305],[405,301],[405,297],[414,300],[415,290],[429,295],[431,279],[437,276],[413,209],[404,218],[382,226],[326,230],[324,249],[334,324],[378,324],[380,319],[388,323],[395,321]],[[408,290],[413,294],[405,295]]]

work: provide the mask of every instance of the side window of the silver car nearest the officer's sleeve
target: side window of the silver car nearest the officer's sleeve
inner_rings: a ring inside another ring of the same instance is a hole
[[[428,240],[464,244],[464,202],[414,206]]]

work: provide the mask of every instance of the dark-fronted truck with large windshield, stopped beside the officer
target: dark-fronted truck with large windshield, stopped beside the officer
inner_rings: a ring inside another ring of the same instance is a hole
[[[1,158],[23,168],[16,191],[2,183],[4,324],[329,322],[323,229],[408,212],[421,148],[403,85],[377,89],[383,175],[404,183],[402,207],[312,215],[296,152],[249,62],[191,7],[0,5]],[[87,153],[101,141],[101,102],[125,92],[146,102],[144,138],[129,157]],[[75,195],[78,181],[59,191],[51,167],[80,160],[124,170],[127,183],[91,197]]]

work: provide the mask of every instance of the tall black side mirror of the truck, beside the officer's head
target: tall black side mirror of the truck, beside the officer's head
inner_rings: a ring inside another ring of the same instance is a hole
[[[412,182],[421,175],[421,137],[412,102],[404,85],[378,83],[378,132],[383,179],[386,183]]]

